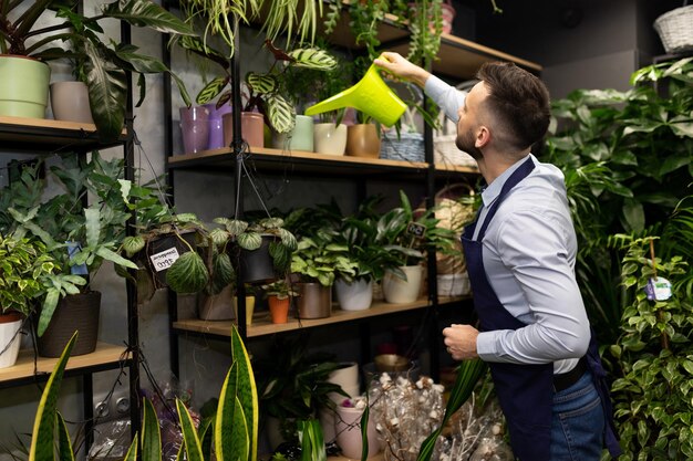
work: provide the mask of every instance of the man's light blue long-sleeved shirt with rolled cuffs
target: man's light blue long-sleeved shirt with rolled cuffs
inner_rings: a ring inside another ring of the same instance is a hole
[[[454,109],[453,105],[461,104],[464,96],[461,98],[456,88],[432,76],[425,91],[448,117],[454,114],[457,119],[459,105]],[[527,326],[479,333],[476,347],[486,362],[554,363],[555,373],[566,373],[586,354],[590,340],[575,276],[577,239],[562,172],[531,154],[530,158],[535,169],[506,196],[483,240],[490,286],[503,306]],[[479,223],[524,160],[484,190]]]

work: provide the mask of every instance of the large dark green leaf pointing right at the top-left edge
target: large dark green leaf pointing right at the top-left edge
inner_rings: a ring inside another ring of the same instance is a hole
[[[195,35],[187,23],[151,0],[120,0],[108,3],[104,14],[132,25],[154,29],[162,33]]]

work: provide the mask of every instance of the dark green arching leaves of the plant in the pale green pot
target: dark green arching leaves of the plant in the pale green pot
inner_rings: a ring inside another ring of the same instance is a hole
[[[0,53],[43,61],[71,60],[75,64],[75,75],[89,87],[92,116],[102,139],[117,139],[123,130],[127,72],[138,75],[137,106],[145,97],[144,75],[162,72],[174,78],[184,101],[189,104],[185,85],[164,63],[138,53],[132,44],[107,43],[100,36],[103,33],[100,21],[110,18],[174,35],[193,34],[188,25],[149,0],[114,1],[105,4],[101,13],[94,17],[77,12],[79,4],[76,0],[3,1],[0,8]],[[19,11],[24,7],[28,8]],[[50,13],[54,14],[58,23],[38,25]],[[65,41],[72,43],[72,49],[59,48]]]

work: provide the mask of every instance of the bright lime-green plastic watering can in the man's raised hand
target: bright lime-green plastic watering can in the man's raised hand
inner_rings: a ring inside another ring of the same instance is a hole
[[[354,107],[385,126],[394,125],[406,111],[406,104],[383,82],[375,65],[371,65],[351,88],[308,107],[304,114],[316,115],[342,107]]]

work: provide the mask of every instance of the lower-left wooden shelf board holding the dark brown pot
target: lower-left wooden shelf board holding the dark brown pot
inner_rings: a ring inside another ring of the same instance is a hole
[[[68,370],[76,370],[102,365],[116,365],[123,358],[124,346],[114,346],[106,343],[97,343],[96,350],[92,354],[77,355],[68,360]],[[130,357],[130,356],[128,356]],[[126,357],[126,358],[128,358]],[[38,357],[37,374],[50,374],[58,363],[58,358]],[[0,383],[19,380],[34,376],[33,350],[23,349],[19,353],[19,358],[14,366],[0,369]]]

